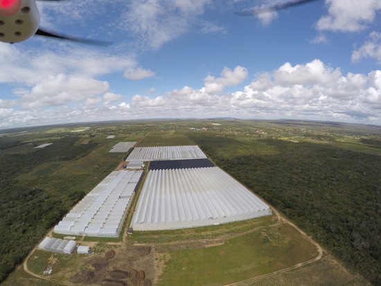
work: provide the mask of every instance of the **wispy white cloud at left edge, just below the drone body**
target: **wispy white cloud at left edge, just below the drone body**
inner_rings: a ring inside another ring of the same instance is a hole
[[[70,73],[96,77],[123,71],[136,65],[129,56],[116,56],[85,48],[57,48],[55,51],[24,49],[23,46],[0,43],[0,82],[34,85],[50,75]]]

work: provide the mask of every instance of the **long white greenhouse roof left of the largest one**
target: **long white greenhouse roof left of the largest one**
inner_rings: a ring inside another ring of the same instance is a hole
[[[143,170],[113,171],[67,213],[54,232],[117,237],[142,174]]]

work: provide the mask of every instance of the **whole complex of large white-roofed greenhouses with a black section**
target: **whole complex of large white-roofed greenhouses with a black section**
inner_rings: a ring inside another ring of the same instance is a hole
[[[55,226],[55,233],[118,237],[143,177],[139,168],[147,161],[150,168],[130,225],[134,231],[208,226],[272,213],[197,145],[134,148],[125,161],[125,170],[103,179]]]

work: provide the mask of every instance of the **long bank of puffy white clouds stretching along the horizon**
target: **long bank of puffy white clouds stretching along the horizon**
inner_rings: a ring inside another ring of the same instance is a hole
[[[237,84],[246,78],[247,70],[242,66],[233,70],[224,68],[221,74],[220,78],[209,77],[210,82],[223,86]],[[57,93],[62,89],[55,89],[53,82],[67,86],[64,89],[66,93]],[[256,75],[242,89],[223,94],[210,93],[206,87],[184,86],[158,96],[136,94],[130,100],[123,98],[123,102],[118,103],[121,97],[109,92],[107,83],[96,80],[80,82],[80,78],[59,75],[36,85],[24,95],[27,98],[33,95],[33,102],[37,102],[35,105],[29,102],[30,108],[16,110],[0,105],[0,127],[94,121],[99,118],[213,116],[381,123],[381,71],[343,74],[340,69],[320,60],[306,64],[285,63],[274,71]],[[89,87],[92,88],[89,90]],[[72,102],[73,98],[81,100],[82,104],[79,107],[64,104]],[[102,100],[107,105],[101,105]],[[43,109],[47,102],[60,102],[62,105]]]

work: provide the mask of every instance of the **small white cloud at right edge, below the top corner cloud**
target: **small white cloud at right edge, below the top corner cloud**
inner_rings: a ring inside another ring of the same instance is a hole
[[[360,62],[364,58],[372,58],[381,64],[381,33],[373,31],[369,39],[352,53],[352,62]]]

